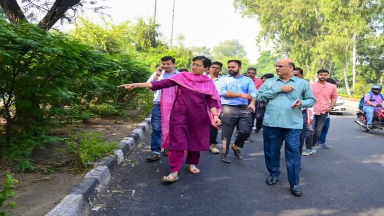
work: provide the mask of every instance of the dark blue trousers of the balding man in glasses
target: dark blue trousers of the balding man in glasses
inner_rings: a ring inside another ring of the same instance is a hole
[[[280,149],[285,141],[285,163],[287,166],[289,184],[300,183],[300,136],[301,129],[269,127],[263,125],[264,158],[270,176],[279,177]]]

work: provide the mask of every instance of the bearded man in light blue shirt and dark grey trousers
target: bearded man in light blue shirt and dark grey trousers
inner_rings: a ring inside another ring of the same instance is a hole
[[[232,138],[234,127],[237,126],[239,135],[230,147],[234,156],[242,159],[240,148],[244,146],[245,140],[252,131],[252,116],[255,112],[256,88],[251,78],[240,74],[241,61],[229,60],[229,75],[220,80],[220,96],[223,110],[221,112],[222,120],[222,156],[221,161],[230,163],[228,150]]]

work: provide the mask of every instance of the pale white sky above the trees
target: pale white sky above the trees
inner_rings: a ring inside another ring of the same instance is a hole
[[[172,9],[174,0],[157,0],[156,23],[165,41],[170,41],[172,30]],[[116,22],[132,20],[138,17],[153,18],[155,0],[105,0],[99,5],[109,6],[104,10]],[[99,22],[100,14],[86,10],[82,14],[92,21]],[[68,28],[68,27],[66,27]],[[174,44],[175,38],[182,34],[184,46],[213,48],[224,40],[238,39],[244,45],[250,63],[259,57],[256,37],[260,25],[255,18],[242,18],[236,12],[232,0],[175,0]],[[264,44],[262,50],[270,49]]]

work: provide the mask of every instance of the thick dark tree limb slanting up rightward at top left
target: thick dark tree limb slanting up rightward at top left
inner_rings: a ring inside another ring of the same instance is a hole
[[[55,23],[64,16],[68,9],[76,6],[81,0],[56,0],[46,16],[41,19],[38,26],[46,31],[50,30]]]

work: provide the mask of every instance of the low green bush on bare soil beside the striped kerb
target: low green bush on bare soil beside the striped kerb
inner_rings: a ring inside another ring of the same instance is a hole
[[[91,167],[90,163],[108,156],[117,148],[116,142],[103,141],[103,134],[100,132],[82,132],[77,135],[70,135],[64,139],[66,148],[63,152],[71,158],[73,171],[81,173]]]

